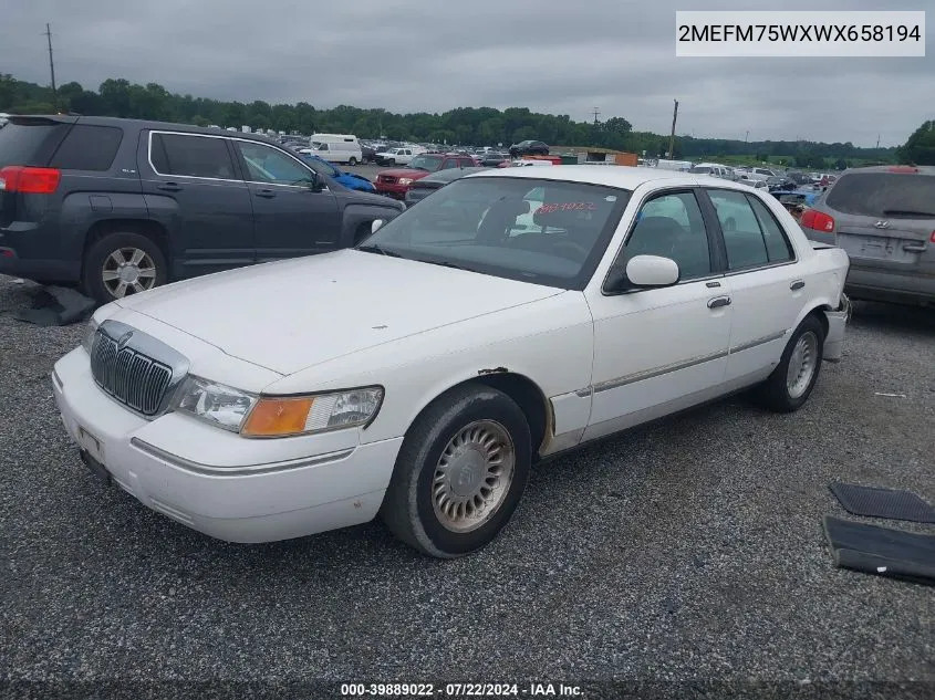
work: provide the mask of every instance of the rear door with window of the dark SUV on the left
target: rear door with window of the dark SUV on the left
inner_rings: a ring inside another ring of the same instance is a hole
[[[149,217],[169,231],[174,279],[253,262],[253,209],[227,138],[144,130],[137,164]]]

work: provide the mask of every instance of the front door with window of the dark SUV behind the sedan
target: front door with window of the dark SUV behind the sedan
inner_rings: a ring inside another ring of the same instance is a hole
[[[257,262],[311,255],[339,245],[334,195],[311,187],[314,173],[279,148],[233,140],[253,202]]]

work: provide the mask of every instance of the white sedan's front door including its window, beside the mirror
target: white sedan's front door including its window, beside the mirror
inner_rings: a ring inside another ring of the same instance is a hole
[[[675,260],[678,284],[595,294],[590,440],[628,428],[718,393],[730,341],[730,289],[713,254],[696,194],[650,198],[621,252]]]

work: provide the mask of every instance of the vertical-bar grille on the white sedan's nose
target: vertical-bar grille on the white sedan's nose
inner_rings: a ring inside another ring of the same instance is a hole
[[[159,412],[173,379],[172,367],[138,349],[120,347],[102,330],[94,336],[91,374],[97,386],[144,416]]]

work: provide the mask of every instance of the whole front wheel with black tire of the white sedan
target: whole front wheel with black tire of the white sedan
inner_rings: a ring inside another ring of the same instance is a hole
[[[485,459],[478,447],[488,439],[500,447]],[[470,554],[512,516],[529,480],[530,445],[526,416],[510,397],[485,386],[457,387],[430,404],[406,433],[380,516],[396,537],[424,554]],[[479,522],[471,522],[475,518]]]

